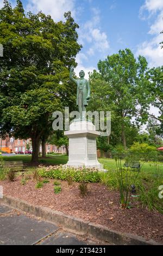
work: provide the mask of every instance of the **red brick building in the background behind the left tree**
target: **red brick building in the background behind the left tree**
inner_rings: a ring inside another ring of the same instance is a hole
[[[4,140],[2,140],[2,148],[9,148],[12,150],[12,153],[15,153],[17,151],[23,151],[25,152],[27,149],[27,145],[29,145],[29,149],[32,150],[32,142],[31,139],[15,139],[14,137],[7,137]],[[42,148],[40,146],[40,153],[42,151]],[[64,146],[58,148],[55,145],[46,144],[46,153],[49,152],[55,152],[60,154],[65,154],[66,149]]]

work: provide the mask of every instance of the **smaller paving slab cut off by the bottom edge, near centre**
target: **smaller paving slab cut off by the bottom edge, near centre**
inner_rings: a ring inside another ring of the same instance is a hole
[[[43,240],[39,245],[87,245],[82,240],[77,239],[76,236],[70,233],[60,233],[57,236],[52,235]]]

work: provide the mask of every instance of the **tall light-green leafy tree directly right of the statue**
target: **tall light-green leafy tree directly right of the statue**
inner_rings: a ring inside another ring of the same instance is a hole
[[[99,72],[94,71],[92,83],[92,102],[94,110],[111,111],[111,136],[121,140],[127,148],[126,133],[131,126],[131,118],[136,121],[147,120],[148,77],[147,61],[139,56],[136,60],[129,50],[120,50],[98,62]],[[135,129],[135,128],[134,128]],[[130,132],[131,134],[131,132]]]

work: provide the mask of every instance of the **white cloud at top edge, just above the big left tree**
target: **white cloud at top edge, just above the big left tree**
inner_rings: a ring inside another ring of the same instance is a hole
[[[66,11],[71,11],[72,16],[75,15],[74,0],[29,0],[26,9],[33,13],[42,10],[46,15],[51,15],[55,21],[63,20]]]

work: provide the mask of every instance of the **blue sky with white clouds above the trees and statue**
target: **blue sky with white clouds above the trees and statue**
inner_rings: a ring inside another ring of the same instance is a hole
[[[15,0],[10,1],[15,5]],[[76,72],[97,69],[99,59],[130,48],[135,56],[142,54],[149,66],[163,65],[163,0],[23,0],[24,9],[36,13],[42,10],[55,21],[72,11],[79,24],[79,43]],[[3,0],[0,0],[0,7]]]

